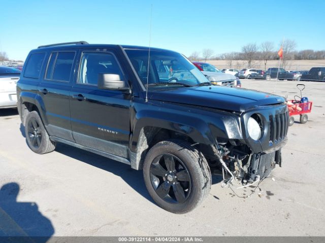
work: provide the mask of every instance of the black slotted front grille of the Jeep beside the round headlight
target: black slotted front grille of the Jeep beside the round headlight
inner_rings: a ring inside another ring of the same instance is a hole
[[[270,115],[270,142],[278,143],[285,139],[288,132],[289,112]]]

